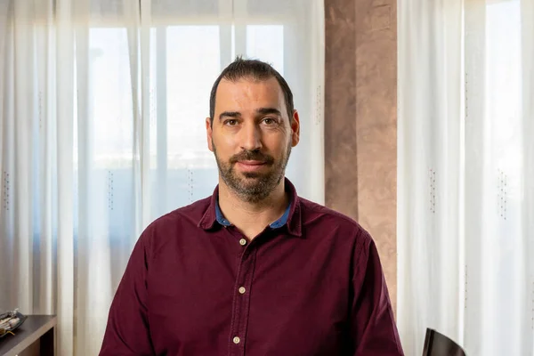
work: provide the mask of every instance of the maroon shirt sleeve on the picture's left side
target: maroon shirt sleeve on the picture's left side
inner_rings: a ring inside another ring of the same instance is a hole
[[[135,244],[109,309],[100,356],[154,355],[147,312],[147,231]]]

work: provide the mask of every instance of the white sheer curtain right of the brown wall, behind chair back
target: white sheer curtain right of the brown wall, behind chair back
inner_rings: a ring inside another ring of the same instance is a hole
[[[399,2],[398,322],[534,354],[534,1]]]

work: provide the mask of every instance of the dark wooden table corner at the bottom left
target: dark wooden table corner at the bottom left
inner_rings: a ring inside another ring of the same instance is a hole
[[[55,315],[28,315],[14,336],[0,338],[0,356],[55,355]]]

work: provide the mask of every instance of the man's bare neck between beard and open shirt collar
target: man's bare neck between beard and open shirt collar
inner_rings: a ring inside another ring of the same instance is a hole
[[[286,211],[289,198],[284,179],[271,194],[258,202],[247,202],[219,179],[219,206],[224,217],[243,232],[248,239],[277,221]]]

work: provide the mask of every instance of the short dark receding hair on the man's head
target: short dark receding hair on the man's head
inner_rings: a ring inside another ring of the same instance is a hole
[[[276,78],[280,87],[282,88],[282,92],[284,92],[287,115],[289,117],[289,121],[291,122],[294,110],[293,93],[291,93],[291,89],[289,88],[289,85],[287,85],[286,79],[280,76],[279,72],[272,68],[269,63],[257,60],[244,60],[241,57],[237,57],[236,60],[231,62],[230,65],[223,70],[221,75],[217,77],[217,80],[215,80],[214,86],[212,87],[211,95],[209,97],[209,117],[211,119],[211,123],[213,124],[214,122],[215,96],[217,93],[217,88],[219,87],[219,83],[223,78],[235,82],[243,78],[267,80],[271,77]]]

